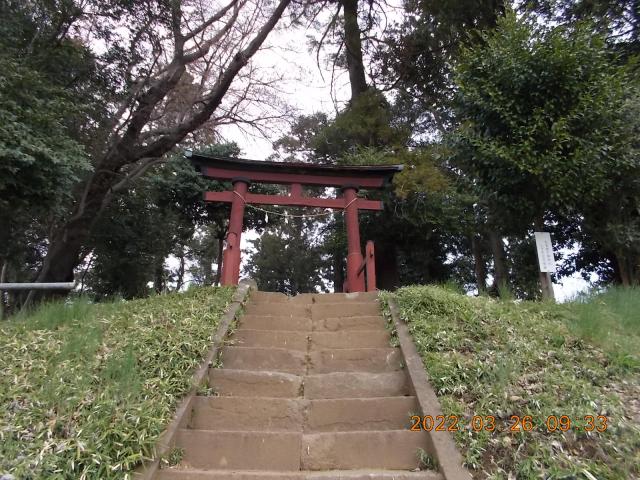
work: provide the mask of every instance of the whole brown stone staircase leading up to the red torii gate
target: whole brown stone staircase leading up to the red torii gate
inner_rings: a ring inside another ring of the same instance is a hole
[[[374,294],[253,292],[159,480],[436,480]]]

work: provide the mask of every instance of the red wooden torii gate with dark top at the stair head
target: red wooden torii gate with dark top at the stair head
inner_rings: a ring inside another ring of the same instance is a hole
[[[331,208],[345,211],[347,228],[347,281],[345,292],[375,290],[373,242],[367,242],[366,262],[360,246],[358,210],[382,210],[379,200],[359,198],[359,189],[382,189],[391,182],[402,165],[332,166],[309,163],[285,163],[213,157],[200,154],[187,155],[210,178],[231,180],[233,190],[205,192],[208,202],[231,203],[231,217],[224,250],[221,283],[237,285],[240,279],[240,237],[242,235],[245,204],[289,205],[296,207]],[[289,195],[263,195],[250,193],[249,184],[274,183],[289,185]],[[302,195],[303,185],[338,187],[342,197],[313,198]],[[367,285],[365,287],[365,268]],[[336,288],[339,288],[336,285]]]

